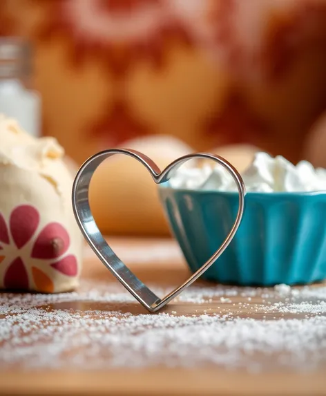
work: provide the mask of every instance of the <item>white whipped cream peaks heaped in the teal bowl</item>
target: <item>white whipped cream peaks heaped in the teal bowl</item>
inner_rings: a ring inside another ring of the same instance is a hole
[[[251,192],[302,192],[326,191],[326,169],[315,169],[310,162],[292,164],[281,155],[275,158],[258,152],[242,173],[247,191]],[[237,191],[231,174],[222,165],[208,164],[202,168],[180,167],[169,180],[175,189],[202,189]]]

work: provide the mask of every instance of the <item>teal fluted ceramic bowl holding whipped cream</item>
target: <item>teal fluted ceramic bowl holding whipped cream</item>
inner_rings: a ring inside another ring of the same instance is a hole
[[[238,193],[173,189],[166,182],[159,194],[195,272],[229,233]],[[262,286],[326,279],[326,193],[247,193],[236,236],[202,279]]]

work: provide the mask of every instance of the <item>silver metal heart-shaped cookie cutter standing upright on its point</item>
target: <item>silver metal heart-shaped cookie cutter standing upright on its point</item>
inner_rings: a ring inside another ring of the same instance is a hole
[[[151,173],[151,176],[156,184],[160,184],[169,180],[171,172],[188,160],[193,158],[213,160],[218,162],[218,164],[222,165],[222,167],[231,173],[231,176],[238,187],[238,214],[236,216],[235,222],[233,223],[233,227],[227,235],[227,238],[225,238],[224,242],[216,250],[213,256],[211,256],[211,258],[209,258],[209,260],[207,260],[207,262],[204,263],[197,272],[192,274],[189,279],[182,283],[182,285],[164,296],[162,299],[160,299],[150,289],[148,289],[148,287],[144,285],[144,283],[142,283],[142,281],[140,281],[140,279],[138,279],[137,276],[135,276],[135,274],[133,274],[133,272],[131,272],[131,270],[126,267],[126,265],[124,265],[119,257],[117,257],[115,252],[113,252],[113,249],[111,249],[111,247],[104,240],[101,232],[99,232],[99,229],[90,211],[90,205],[88,201],[90,179],[92,178],[93,173],[99,164],[106,160],[106,158],[109,158],[111,155],[115,154],[129,155],[130,157],[135,158],[135,160],[141,162],[149,171],[149,173]],[[245,184],[238,171],[227,160],[224,160],[224,158],[221,158],[218,155],[211,153],[194,153],[184,155],[183,157],[178,158],[169,164],[163,171],[160,171],[155,162],[138,151],[128,149],[109,149],[93,155],[81,165],[73,183],[72,198],[73,211],[79,228],[81,229],[86,241],[93,249],[99,260],[102,261],[108,270],[112,272],[118,281],[122,283],[124,287],[126,287],[126,290],[128,290],[128,292],[130,292],[135,297],[135,299],[137,299],[137,301],[139,301],[144,306],[144,308],[146,308],[146,310],[149,312],[156,312],[163,308],[164,305],[169,303],[176,296],[178,296],[178,294],[180,294],[187,286],[191,285],[191,283],[198,279],[209,267],[211,267],[211,265],[213,265],[213,263],[215,263],[215,261],[228,247],[242,220],[242,214],[245,205],[245,194]]]

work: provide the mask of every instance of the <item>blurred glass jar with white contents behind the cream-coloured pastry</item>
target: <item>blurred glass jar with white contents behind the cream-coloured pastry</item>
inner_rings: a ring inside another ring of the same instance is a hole
[[[0,113],[26,132],[41,133],[41,98],[32,89],[32,49],[18,37],[0,37]]]

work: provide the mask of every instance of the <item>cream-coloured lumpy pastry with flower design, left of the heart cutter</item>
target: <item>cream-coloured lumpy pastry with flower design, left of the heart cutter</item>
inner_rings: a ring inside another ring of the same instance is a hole
[[[73,290],[83,238],[73,216],[73,177],[64,149],[1,115],[0,183],[0,287]]]

